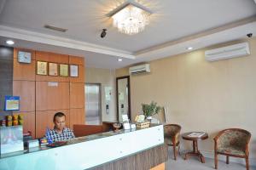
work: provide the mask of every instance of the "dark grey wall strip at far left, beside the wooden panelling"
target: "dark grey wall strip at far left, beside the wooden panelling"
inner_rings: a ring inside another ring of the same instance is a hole
[[[13,55],[14,48],[0,46],[0,120],[12,114],[4,110],[4,97],[13,94]]]

